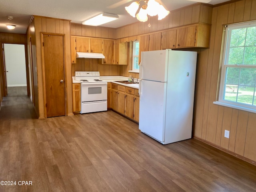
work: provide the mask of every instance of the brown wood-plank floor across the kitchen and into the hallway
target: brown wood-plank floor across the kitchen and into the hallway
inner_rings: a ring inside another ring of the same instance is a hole
[[[39,120],[19,89],[0,110],[0,180],[16,181],[1,192],[256,191],[256,166],[198,140],[162,145],[112,111]]]

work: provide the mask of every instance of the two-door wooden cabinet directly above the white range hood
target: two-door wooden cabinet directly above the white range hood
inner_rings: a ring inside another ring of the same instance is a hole
[[[76,37],[76,51],[77,52],[103,52],[103,40],[95,38]]]

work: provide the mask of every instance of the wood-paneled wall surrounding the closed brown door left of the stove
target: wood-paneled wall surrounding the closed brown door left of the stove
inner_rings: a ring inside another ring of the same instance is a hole
[[[66,88],[66,115],[73,114],[72,106],[72,74],[71,74],[71,52],[70,52],[70,21],[55,18],[47,18],[34,16],[32,23],[29,26],[28,38],[33,39],[35,46],[36,59],[33,62],[33,72],[36,74],[36,83],[34,85],[34,100],[39,118],[44,116],[44,90],[43,90],[43,75],[42,75],[42,51],[41,51],[41,32],[65,34],[64,41],[64,71],[65,71],[65,88]],[[33,48],[32,48],[33,50]],[[32,53],[33,54],[33,53]],[[34,75],[35,76],[35,75]],[[36,93],[38,92],[38,93]],[[36,95],[38,94],[38,95]],[[38,104],[36,104],[38,102]]]

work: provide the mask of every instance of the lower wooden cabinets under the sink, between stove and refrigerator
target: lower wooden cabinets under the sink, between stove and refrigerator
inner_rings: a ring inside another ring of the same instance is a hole
[[[139,103],[140,96],[138,94],[138,89],[114,83],[111,84],[112,110],[139,122]]]

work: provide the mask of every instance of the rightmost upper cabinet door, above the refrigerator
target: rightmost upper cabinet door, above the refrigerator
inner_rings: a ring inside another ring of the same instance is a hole
[[[194,47],[196,42],[196,26],[180,28],[177,30],[177,46],[181,47]]]

